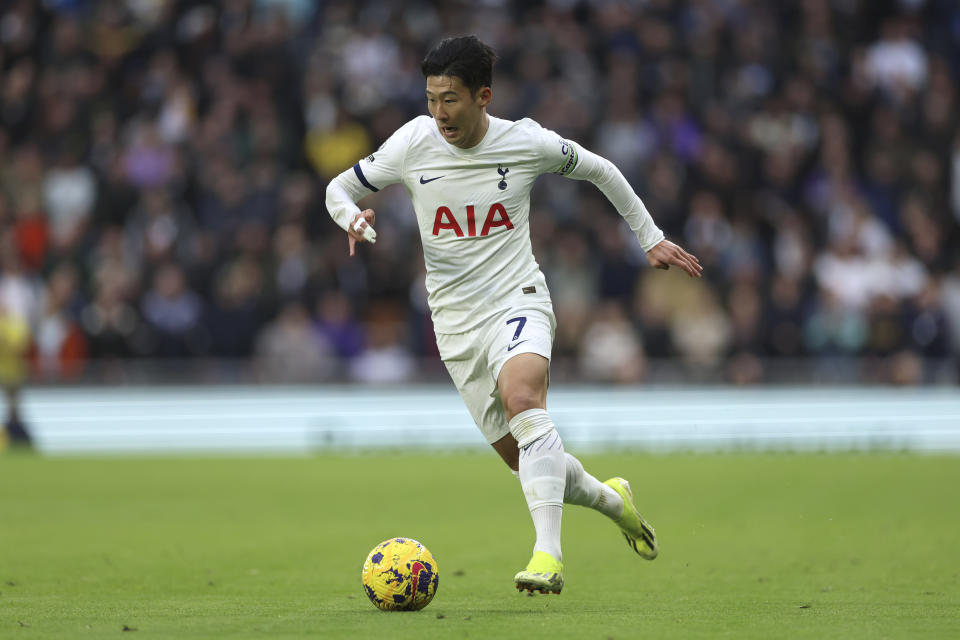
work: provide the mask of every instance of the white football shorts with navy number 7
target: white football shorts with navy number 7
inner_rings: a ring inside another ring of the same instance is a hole
[[[557,320],[547,303],[513,307],[464,333],[438,333],[437,347],[460,397],[487,442],[510,433],[497,389],[500,369],[520,353],[548,361]]]

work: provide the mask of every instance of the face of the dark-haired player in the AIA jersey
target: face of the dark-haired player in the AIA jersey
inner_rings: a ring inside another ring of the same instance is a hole
[[[455,147],[476,146],[487,132],[486,106],[492,97],[490,87],[470,93],[456,76],[427,77],[427,109],[443,139]]]

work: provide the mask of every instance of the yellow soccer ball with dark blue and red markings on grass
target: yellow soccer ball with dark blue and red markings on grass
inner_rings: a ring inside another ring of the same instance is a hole
[[[384,611],[419,611],[430,604],[440,579],[430,551],[410,538],[390,538],[363,563],[363,590]]]

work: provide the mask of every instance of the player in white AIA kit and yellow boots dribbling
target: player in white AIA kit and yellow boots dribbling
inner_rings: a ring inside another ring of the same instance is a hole
[[[448,38],[421,65],[427,109],[327,187],[330,215],[356,243],[375,242],[372,209],[356,202],[401,182],[423,241],[428,301],[440,356],[487,441],[520,480],[536,531],[518,589],[563,588],[563,504],[591,507],[653,560],[653,527],[622,478],[600,482],[563,450],[547,413],[556,320],[530,245],[530,189],[555,173],[595,184],[636,233],[649,263],[699,277],[697,258],[664,239],[609,161],[530,119],[487,113],[496,55],[474,36]]]

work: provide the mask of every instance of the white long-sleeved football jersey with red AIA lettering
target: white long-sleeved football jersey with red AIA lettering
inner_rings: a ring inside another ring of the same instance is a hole
[[[359,211],[357,200],[395,182],[406,187],[438,333],[467,331],[517,304],[549,303],[530,245],[530,189],[541,174],[597,184],[644,250],[663,239],[610,162],[533,120],[489,117],[483,140],[470,149],[446,142],[429,116],[414,118],[327,189],[327,209],[346,229]]]

